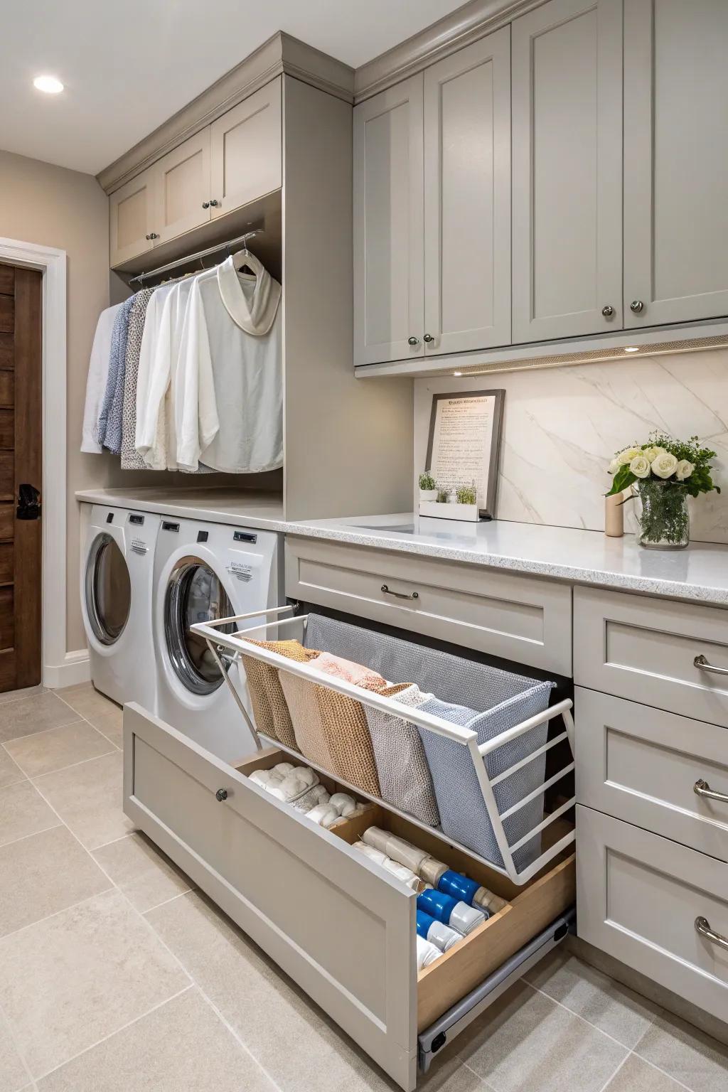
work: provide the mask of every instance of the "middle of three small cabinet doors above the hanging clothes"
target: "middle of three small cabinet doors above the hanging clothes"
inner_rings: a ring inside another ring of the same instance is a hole
[[[211,215],[210,127],[190,136],[154,166],[154,230],[166,242]]]

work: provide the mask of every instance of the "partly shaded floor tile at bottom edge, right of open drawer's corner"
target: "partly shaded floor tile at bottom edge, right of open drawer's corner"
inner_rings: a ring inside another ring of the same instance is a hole
[[[456,1049],[494,1092],[601,1092],[628,1053],[525,983],[476,1020]]]

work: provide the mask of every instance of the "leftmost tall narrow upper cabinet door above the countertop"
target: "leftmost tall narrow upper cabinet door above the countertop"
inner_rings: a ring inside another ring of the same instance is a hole
[[[425,354],[422,74],[354,110],[354,363]]]

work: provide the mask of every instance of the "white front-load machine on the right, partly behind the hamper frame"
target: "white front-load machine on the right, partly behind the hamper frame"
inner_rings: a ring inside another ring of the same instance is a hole
[[[275,532],[162,518],[153,605],[157,713],[226,761],[255,745],[207,643],[190,627],[279,606],[282,563]],[[239,628],[264,621],[253,618]],[[228,670],[250,713],[244,672],[237,664]]]

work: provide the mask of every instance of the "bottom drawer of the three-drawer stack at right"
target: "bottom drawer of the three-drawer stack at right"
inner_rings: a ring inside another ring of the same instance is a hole
[[[719,1020],[728,1020],[728,866],[580,805],[578,935]]]

